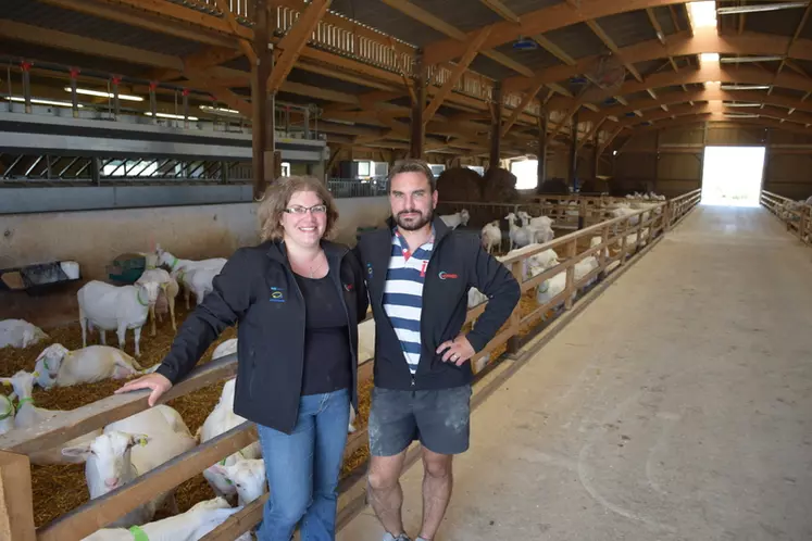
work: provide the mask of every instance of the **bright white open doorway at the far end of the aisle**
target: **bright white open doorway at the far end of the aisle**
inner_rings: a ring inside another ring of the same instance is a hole
[[[764,147],[705,147],[702,204],[759,206]]]

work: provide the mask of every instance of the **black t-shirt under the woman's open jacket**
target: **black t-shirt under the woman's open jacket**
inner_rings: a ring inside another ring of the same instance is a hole
[[[305,278],[295,275],[304,297],[304,374],[302,395],[347,389],[350,372],[350,335],[347,312],[329,276]]]

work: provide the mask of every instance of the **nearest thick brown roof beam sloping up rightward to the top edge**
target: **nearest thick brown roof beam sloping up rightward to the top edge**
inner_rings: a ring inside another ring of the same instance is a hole
[[[524,13],[519,24],[504,21],[488,25],[494,29],[485,41],[486,48],[498,47],[516,39],[519,36],[535,36],[546,32],[563,28],[577,23],[601,18],[617,13],[683,3],[684,0],[628,0],[607,2],[603,0],[580,0],[579,7],[569,3],[557,3],[540,10]],[[401,0],[384,0],[387,4],[403,3]],[[392,5],[396,7],[396,5]],[[459,58],[464,52],[459,39],[444,39],[425,47],[426,62],[437,64]]]

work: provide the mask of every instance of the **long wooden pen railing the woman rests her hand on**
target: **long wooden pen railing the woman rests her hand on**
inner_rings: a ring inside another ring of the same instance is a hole
[[[540,322],[542,314],[563,305],[569,310],[573,305],[572,297],[594,278],[602,279],[612,268],[626,264],[644,243],[650,243],[673,225],[679,223],[698,203],[694,193],[685,194],[670,202],[658,203],[642,209],[628,216],[617,217],[585,227],[539,246],[533,251],[508,257],[503,263],[509,266],[521,284],[522,292],[527,292],[559,273],[566,273],[566,287],[550,302],[539,305],[532,313],[522,315],[516,306],[508,323],[483,351],[472,358],[472,366],[484,355],[490,355],[496,349],[509,344],[515,349],[520,329]],[[658,212],[659,211],[659,212]],[[632,219],[637,216],[637,224]],[[599,246],[590,247],[580,253],[577,247],[588,243],[592,237],[600,236]],[[634,237],[632,237],[634,236]],[[634,239],[634,240],[632,240]],[[617,248],[614,255],[608,254],[607,248]],[[542,274],[528,280],[522,278],[522,262],[541,251],[555,249],[563,255],[562,262]],[[599,266],[586,276],[575,279],[575,264],[585,257],[595,255]],[[613,265],[614,262],[620,262]],[[487,303],[469,310],[466,323],[474,322],[485,310]],[[530,335],[532,336],[532,335]],[[511,342],[512,341],[512,342]],[[510,342],[510,343],[509,343]],[[495,363],[490,358],[488,364]],[[236,355],[217,358],[196,368],[187,378],[175,385],[161,399],[162,403],[188,394],[217,381],[234,377],[237,368]],[[359,366],[359,380],[372,375],[372,361]],[[57,520],[35,528],[33,513],[33,492],[30,465],[27,454],[42,449],[59,446],[66,441],[83,436],[93,429],[126,418],[147,410],[148,391],[112,395],[83,407],[71,411],[64,420],[58,424],[47,423],[42,426],[14,430],[0,437],[0,539],[9,541],[68,541],[89,536],[99,528],[124,516],[130,509],[150,501],[155,493],[170,490],[190,479],[216,463],[235,453],[252,441],[257,433],[251,423],[245,423],[213,440],[173,458],[160,467],[138,477],[133,482],[59,517]],[[345,456],[365,444],[366,431],[359,430],[348,438]],[[207,541],[230,540],[251,529],[262,516],[262,505],[267,496],[246,505],[226,523],[209,533]]]

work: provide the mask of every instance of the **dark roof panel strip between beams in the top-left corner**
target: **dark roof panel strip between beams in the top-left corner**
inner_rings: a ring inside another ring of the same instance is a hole
[[[2,2],[2,17],[99,41],[136,47],[175,56],[191,54],[201,49],[201,45],[193,41],[64,10],[36,0],[4,0]]]

